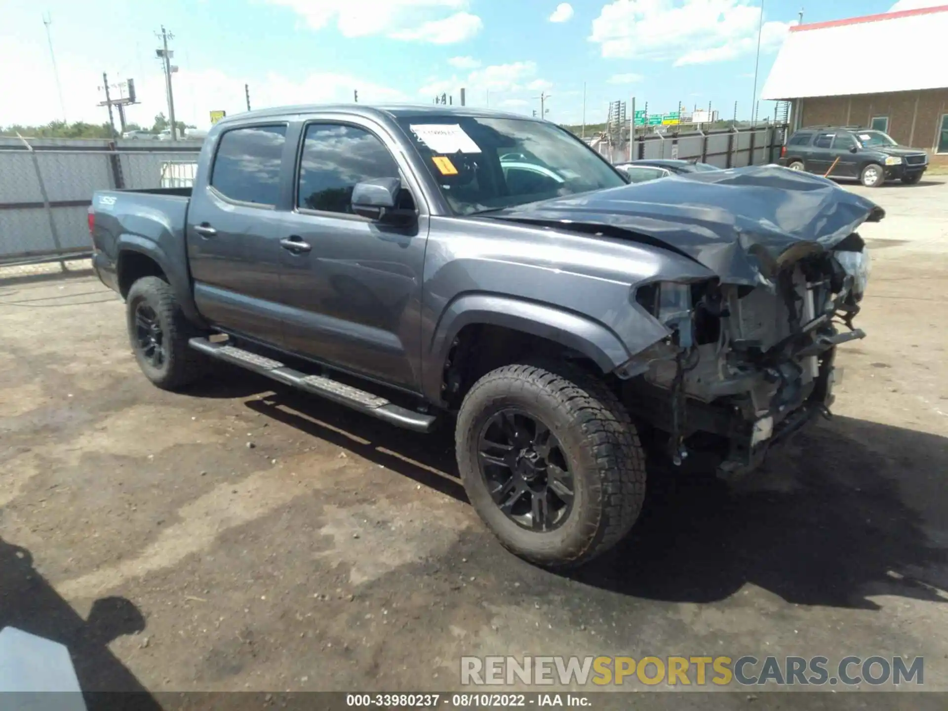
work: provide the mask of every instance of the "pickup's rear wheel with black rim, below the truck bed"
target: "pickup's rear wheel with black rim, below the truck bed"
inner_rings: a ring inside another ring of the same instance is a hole
[[[142,277],[126,299],[129,340],[141,372],[162,390],[178,390],[204,373],[206,359],[188,345],[200,335],[181,311],[171,284]]]

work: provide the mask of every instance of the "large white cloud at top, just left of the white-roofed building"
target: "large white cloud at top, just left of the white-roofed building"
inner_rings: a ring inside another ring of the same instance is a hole
[[[751,0],[613,0],[593,20],[590,40],[606,58],[722,62],[756,50],[759,20]],[[765,22],[761,51],[780,46],[793,24]]]

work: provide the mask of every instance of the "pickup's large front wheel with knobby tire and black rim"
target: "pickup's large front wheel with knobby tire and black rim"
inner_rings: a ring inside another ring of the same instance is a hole
[[[600,380],[562,364],[510,365],[465,396],[455,430],[467,497],[501,544],[548,568],[609,550],[638,518],[646,458]]]

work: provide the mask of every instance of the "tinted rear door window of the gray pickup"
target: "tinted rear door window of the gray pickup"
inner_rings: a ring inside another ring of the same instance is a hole
[[[231,200],[274,206],[280,195],[280,166],[286,126],[247,126],[217,143],[210,185]]]

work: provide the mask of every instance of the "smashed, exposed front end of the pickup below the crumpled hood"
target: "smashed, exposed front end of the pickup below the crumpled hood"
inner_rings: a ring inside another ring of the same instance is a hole
[[[756,468],[775,443],[830,416],[836,346],[865,337],[852,321],[867,278],[866,246],[851,234],[783,260],[755,286],[638,285],[635,301],[669,336],[617,369],[629,410],[675,465],[701,452],[720,476]]]

